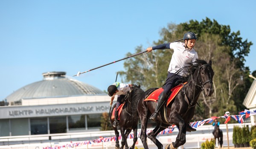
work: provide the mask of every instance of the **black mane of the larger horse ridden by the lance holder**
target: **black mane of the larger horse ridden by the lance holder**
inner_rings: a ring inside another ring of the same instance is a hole
[[[195,70],[198,69],[200,66],[204,65],[204,64],[208,64],[205,60],[201,60],[201,59],[196,59],[194,62],[191,63],[187,63],[187,74],[186,77],[183,78],[183,80],[190,80],[191,79],[191,74],[195,73]]]

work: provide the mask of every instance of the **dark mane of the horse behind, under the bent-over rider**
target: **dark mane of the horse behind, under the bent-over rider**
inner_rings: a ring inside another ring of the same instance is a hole
[[[136,84],[133,84],[130,89],[131,93],[129,95],[129,98],[131,97],[130,102],[132,108],[137,109],[137,103],[141,98],[144,98],[145,92],[143,91],[143,89],[140,89],[140,85],[137,86]]]

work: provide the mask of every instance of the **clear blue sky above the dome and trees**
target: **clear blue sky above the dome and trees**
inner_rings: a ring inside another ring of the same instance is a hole
[[[137,46],[154,46],[168,23],[206,17],[253,42],[245,63],[253,72],[255,6],[255,0],[0,0],[0,100],[41,81],[44,72],[71,77],[122,59]],[[106,90],[120,70],[123,61],[73,78]]]

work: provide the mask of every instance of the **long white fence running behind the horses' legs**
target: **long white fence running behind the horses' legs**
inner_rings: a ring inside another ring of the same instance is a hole
[[[251,127],[251,123],[244,124],[228,124],[228,136],[229,145],[233,146],[233,126],[246,126]],[[213,138],[212,131],[214,127],[212,125],[204,125],[197,128],[196,132],[187,132],[186,143],[183,148],[186,149],[199,149],[201,148],[201,143],[205,140],[210,140]],[[220,129],[223,132],[223,145],[227,146],[227,129],[226,124],[221,124]],[[140,132],[140,129],[138,130]],[[157,139],[166,146],[176,140],[177,129],[170,134],[158,135]],[[131,132],[133,133],[133,132]],[[119,133],[120,134],[120,133]],[[120,134],[121,135],[121,134]],[[86,140],[94,140],[99,137],[113,137],[115,133],[113,131],[98,131],[98,132],[77,132],[77,133],[64,133],[64,134],[50,134],[50,135],[26,135],[26,136],[9,136],[0,137],[0,149],[45,149],[46,147],[58,147],[65,146],[67,144],[73,145],[75,143],[82,143]],[[49,138],[51,140],[49,140]],[[72,142],[71,142],[72,141]],[[127,139],[128,145],[131,146],[133,139]],[[119,141],[121,145],[121,141]],[[150,149],[157,149],[151,140],[147,140]],[[136,146],[140,149],[143,148],[140,138],[138,138]],[[65,147],[70,148],[70,147]],[[65,149],[62,148],[62,149]],[[83,144],[79,146],[74,146],[75,149],[114,149],[115,141],[101,142],[101,143],[91,143]]]

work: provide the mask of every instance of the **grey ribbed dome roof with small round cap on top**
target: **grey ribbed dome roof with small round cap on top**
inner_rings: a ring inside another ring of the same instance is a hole
[[[27,98],[105,94],[100,89],[65,77],[66,72],[43,73],[44,80],[26,85],[6,97],[7,102]]]

